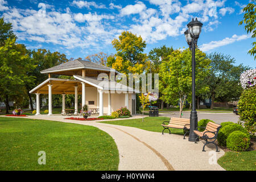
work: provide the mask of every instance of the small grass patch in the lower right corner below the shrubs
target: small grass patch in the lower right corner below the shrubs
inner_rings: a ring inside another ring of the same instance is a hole
[[[256,171],[256,151],[226,152],[218,164],[228,171]]]

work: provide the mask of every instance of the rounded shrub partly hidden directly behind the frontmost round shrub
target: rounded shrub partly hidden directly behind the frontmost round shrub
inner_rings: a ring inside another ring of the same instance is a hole
[[[226,146],[226,139],[229,137],[229,134],[231,134],[233,131],[241,131],[242,133],[245,133],[248,137],[250,137],[250,134],[247,132],[247,130],[242,127],[241,125],[238,125],[234,123],[233,125],[226,125],[224,126],[218,133],[218,144],[221,146]]]

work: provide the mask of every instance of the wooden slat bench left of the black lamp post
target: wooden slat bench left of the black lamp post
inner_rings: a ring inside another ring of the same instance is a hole
[[[164,130],[169,130],[169,134],[171,134],[171,130],[169,129],[170,127],[174,128],[174,129],[183,129],[183,131],[184,131],[183,139],[185,139],[185,135],[187,133],[189,133],[190,119],[171,118],[170,121],[164,121],[162,126],[164,127],[162,134],[163,134]]]

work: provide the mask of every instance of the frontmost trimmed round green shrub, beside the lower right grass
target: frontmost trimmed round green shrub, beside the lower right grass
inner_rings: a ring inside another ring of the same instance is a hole
[[[242,131],[233,131],[226,139],[226,146],[232,151],[245,151],[249,144],[250,137]]]

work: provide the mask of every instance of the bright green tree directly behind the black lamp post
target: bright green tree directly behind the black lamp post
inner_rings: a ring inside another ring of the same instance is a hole
[[[209,63],[205,53],[196,49],[196,85],[207,76]],[[191,51],[177,49],[172,52],[169,59],[160,64],[159,77],[163,100],[172,105],[179,104],[181,117],[185,101],[191,101],[192,95]]]

